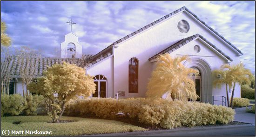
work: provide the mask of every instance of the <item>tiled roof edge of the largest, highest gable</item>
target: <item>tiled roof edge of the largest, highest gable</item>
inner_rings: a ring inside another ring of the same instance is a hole
[[[180,9],[177,9],[175,10],[174,12],[171,12],[169,13],[168,15],[165,15],[164,17],[160,18],[160,19],[157,19],[156,21],[148,24],[148,25],[145,25],[144,27],[140,28],[139,30],[137,31],[134,31],[132,32],[131,34],[125,36],[125,37],[122,37],[121,39],[115,41],[113,44],[109,45],[106,49],[108,49],[109,47],[112,47],[116,44],[119,44],[125,40],[127,40],[129,37],[133,37],[134,35],[150,28],[151,26],[154,26],[160,22],[162,22],[163,20],[165,19],[168,19],[172,16],[174,16],[175,14],[179,13],[179,12],[182,12],[182,11],[187,11],[189,12],[191,15],[193,15],[195,17],[195,19],[197,19],[198,21],[200,21],[203,25],[205,25],[207,28],[209,28],[210,31],[214,32],[218,37],[220,37],[222,40],[224,40],[227,44],[229,44],[232,48],[234,48],[236,51],[238,51],[240,54],[243,54],[243,52],[239,49],[236,48],[236,46],[234,46],[233,44],[231,44],[227,39],[225,39],[222,35],[220,35],[217,31],[215,31],[213,28],[211,28],[209,25],[207,25],[205,22],[203,22],[201,19],[198,18],[198,16],[196,16],[193,12],[191,12],[187,7],[183,6],[182,8]],[[104,49],[105,50],[105,49]]]

